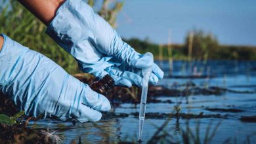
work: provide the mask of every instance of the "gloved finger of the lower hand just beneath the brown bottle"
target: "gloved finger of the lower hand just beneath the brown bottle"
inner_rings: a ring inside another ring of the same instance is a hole
[[[85,86],[85,96],[82,99],[83,104],[97,111],[110,111],[110,101],[103,95],[93,91],[87,84]]]

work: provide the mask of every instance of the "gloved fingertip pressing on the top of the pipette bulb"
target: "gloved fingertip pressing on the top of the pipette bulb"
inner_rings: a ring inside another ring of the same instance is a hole
[[[151,67],[153,63],[154,63],[153,54],[151,54],[150,52],[147,52],[146,54],[141,54],[139,58],[135,58],[131,60],[131,66],[138,69]]]

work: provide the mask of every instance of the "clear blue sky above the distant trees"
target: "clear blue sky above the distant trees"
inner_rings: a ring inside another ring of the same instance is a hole
[[[126,0],[117,16],[124,38],[184,43],[190,29],[211,31],[223,45],[256,45],[256,1]]]

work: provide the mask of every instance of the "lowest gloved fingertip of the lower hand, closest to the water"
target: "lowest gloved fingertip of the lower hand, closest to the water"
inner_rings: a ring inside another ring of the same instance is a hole
[[[102,114],[82,103],[79,105],[78,109],[74,109],[72,113],[72,117],[77,119],[79,122],[96,122],[100,120]]]

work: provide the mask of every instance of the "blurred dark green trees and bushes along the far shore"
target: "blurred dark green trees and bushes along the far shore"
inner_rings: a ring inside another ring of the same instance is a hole
[[[188,60],[189,46],[192,45],[191,60],[256,60],[256,46],[220,45],[211,33],[193,30],[186,35],[183,45],[171,45],[174,60]],[[160,45],[148,40],[125,39],[140,53],[152,52],[156,59],[160,58]],[[163,58],[169,58],[167,45],[163,45]]]

